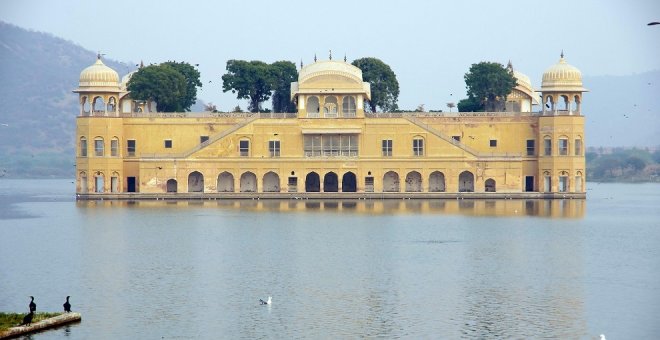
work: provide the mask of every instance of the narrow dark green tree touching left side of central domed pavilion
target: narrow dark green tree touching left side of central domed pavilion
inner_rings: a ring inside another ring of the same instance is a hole
[[[296,64],[276,61],[270,64],[270,73],[273,112],[296,112],[296,105],[291,101],[291,83],[298,80]]]

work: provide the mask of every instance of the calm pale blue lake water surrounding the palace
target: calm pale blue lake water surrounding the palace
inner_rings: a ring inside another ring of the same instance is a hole
[[[0,311],[71,295],[82,322],[32,339],[658,338],[660,185],[588,187],[131,203],[0,180]]]

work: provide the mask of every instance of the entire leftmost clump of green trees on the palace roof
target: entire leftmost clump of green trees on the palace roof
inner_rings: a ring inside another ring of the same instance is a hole
[[[159,112],[189,111],[201,87],[199,71],[188,63],[166,62],[140,68],[128,81],[131,98],[156,102]]]

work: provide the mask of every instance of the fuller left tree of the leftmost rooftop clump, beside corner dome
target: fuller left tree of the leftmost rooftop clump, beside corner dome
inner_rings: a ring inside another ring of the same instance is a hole
[[[127,89],[133,99],[155,101],[158,112],[180,112],[190,108],[190,105],[186,107],[186,77],[169,65],[140,68],[131,76]]]

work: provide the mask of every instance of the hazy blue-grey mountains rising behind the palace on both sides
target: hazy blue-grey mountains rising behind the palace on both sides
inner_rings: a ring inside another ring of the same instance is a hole
[[[95,60],[73,42],[0,21],[0,177],[74,177],[78,96],[71,91]],[[134,65],[103,62],[120,77]],[[584,77],[584,84],[587,146],[660,145],[660,71]]]

